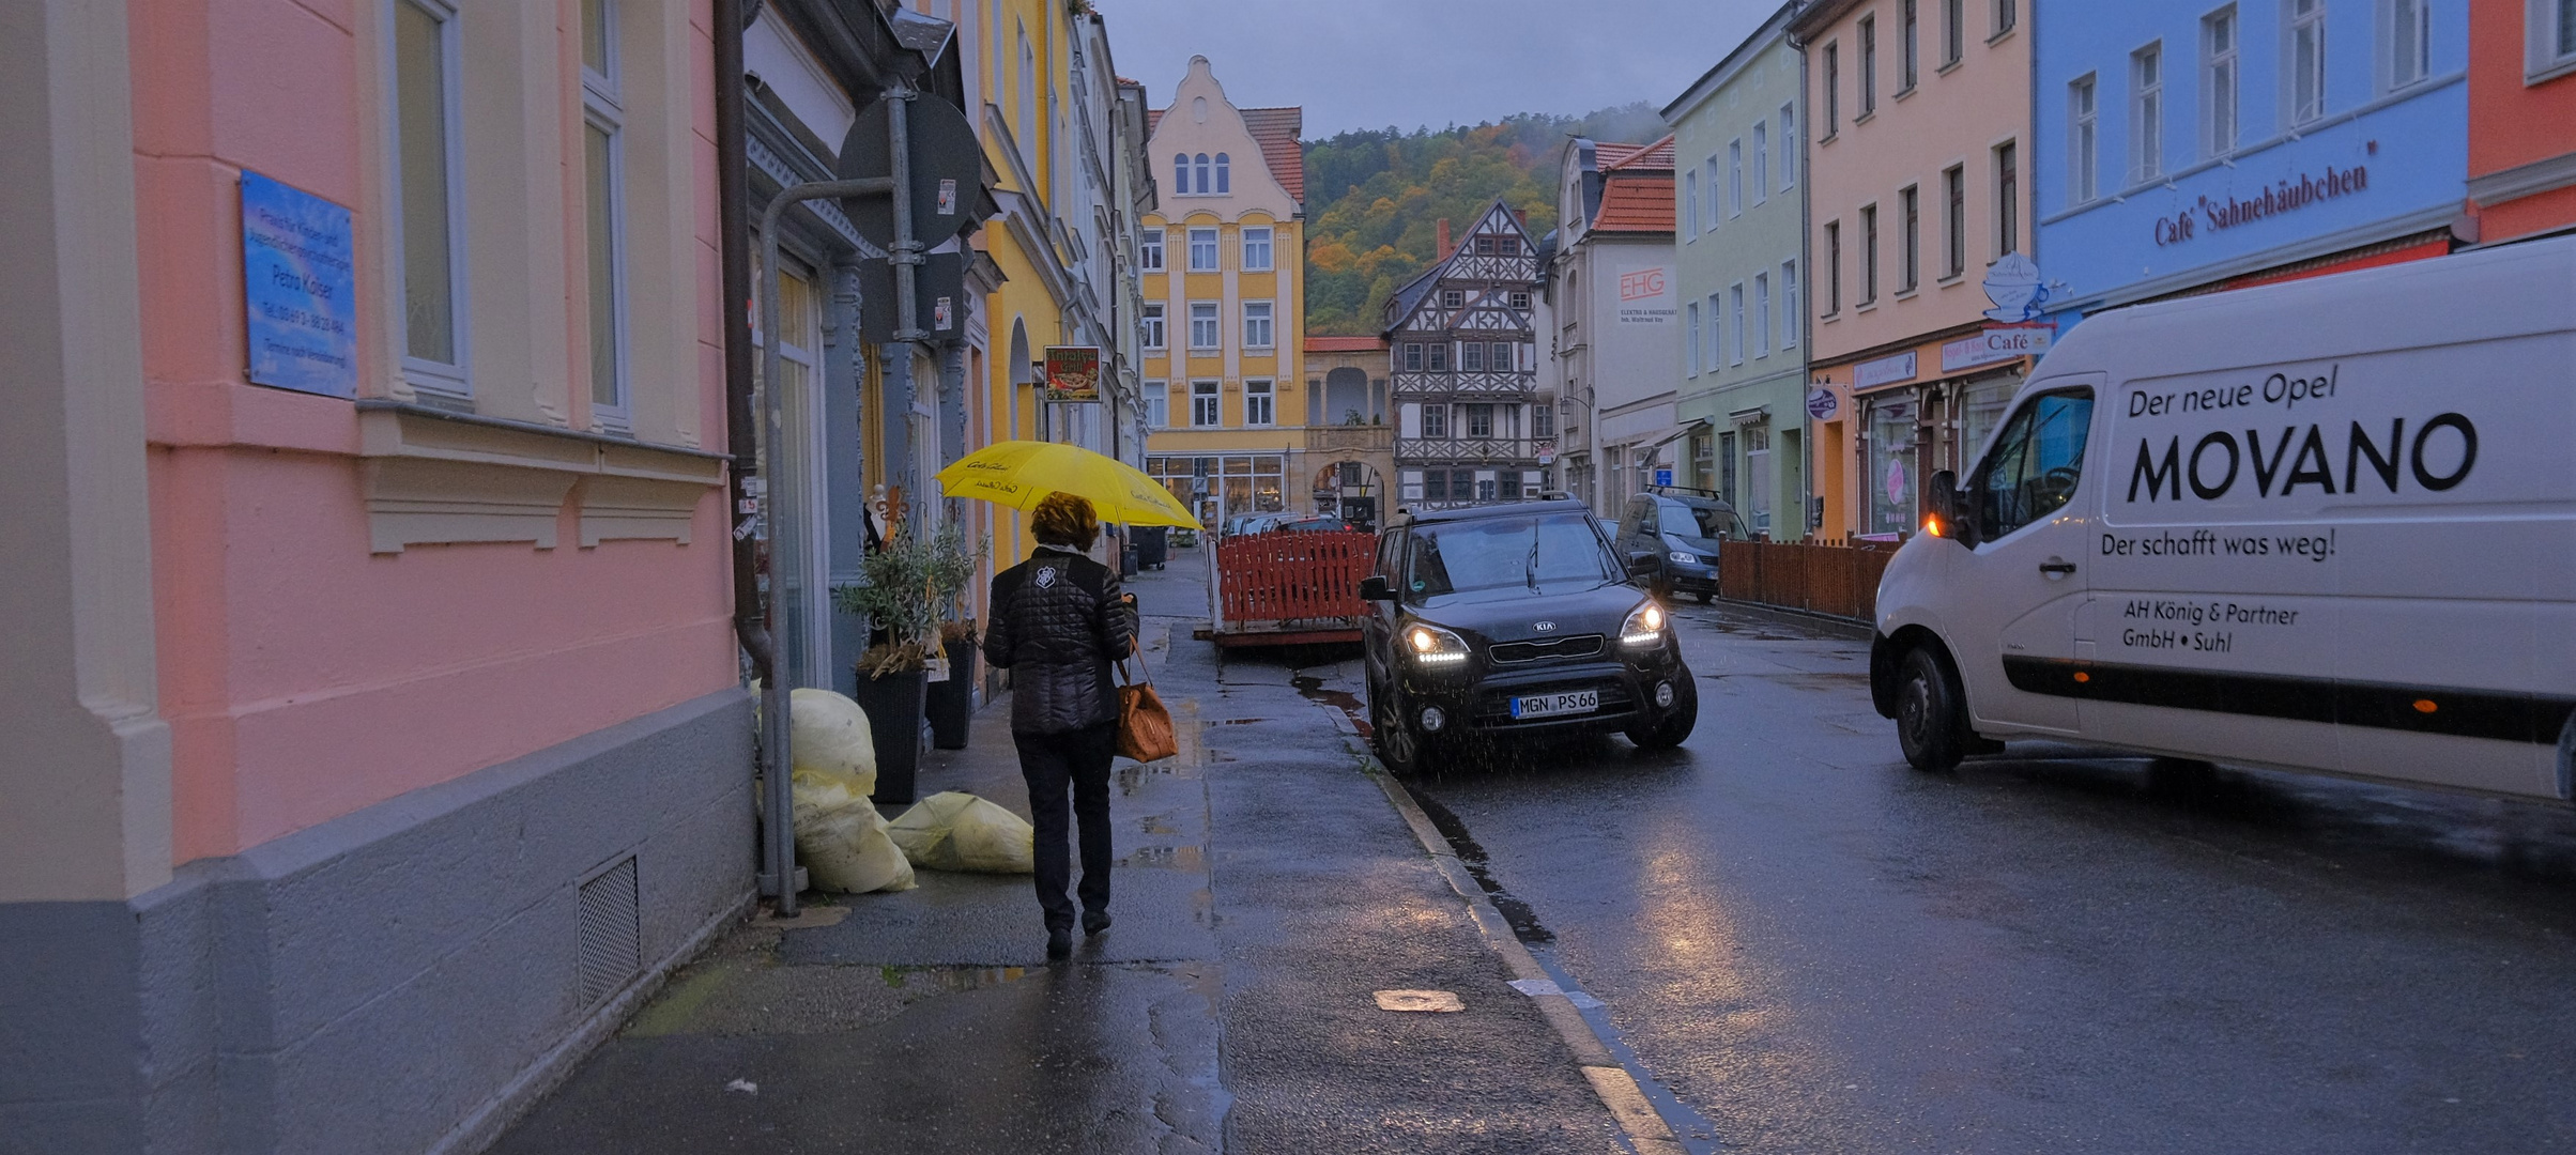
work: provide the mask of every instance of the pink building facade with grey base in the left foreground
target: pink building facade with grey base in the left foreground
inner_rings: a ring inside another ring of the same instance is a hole
[[[471,1150],[750,903],[708,15],[0,15],[0,1134]]]

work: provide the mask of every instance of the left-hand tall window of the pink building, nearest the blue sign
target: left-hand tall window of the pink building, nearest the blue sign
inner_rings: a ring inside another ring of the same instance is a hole
[[[466,391],[464,208],[456,147],[456,10],[394,0],[394,214],[402,239],[402,368],[415,388]]]

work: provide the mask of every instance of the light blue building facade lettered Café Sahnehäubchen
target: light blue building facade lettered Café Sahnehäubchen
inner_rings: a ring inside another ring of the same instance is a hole
[[[2450,250],[2465,0],[2045,5],[2032,162],[2045,309]]]

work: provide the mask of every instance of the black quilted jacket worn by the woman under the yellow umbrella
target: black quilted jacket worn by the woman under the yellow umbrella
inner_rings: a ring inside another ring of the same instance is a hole
[[[1110,664],[1136,646],[1118,574],[1079,553],[1038,553],[992,579],[984,661],[1010,674],[1012,733],[1069,733],[1118,718]]]

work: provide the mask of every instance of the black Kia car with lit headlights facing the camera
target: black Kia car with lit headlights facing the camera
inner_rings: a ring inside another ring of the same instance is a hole
[[[1399,512],[1360,581],[1378,756],[1404,774],[1471,738],[1566,731],[1680,746],[1700,695],[1628,581],[1571,499]]]

